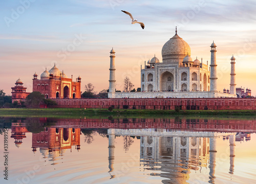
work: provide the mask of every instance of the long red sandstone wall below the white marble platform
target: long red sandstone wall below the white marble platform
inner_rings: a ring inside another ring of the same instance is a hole
[[[256,98],[53,99],[62,108],[256,110]]]

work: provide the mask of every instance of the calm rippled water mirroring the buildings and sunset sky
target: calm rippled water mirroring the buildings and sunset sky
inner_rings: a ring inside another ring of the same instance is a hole
[[[2,118],[1,128],[1,183],[256,183],[256,120]]]

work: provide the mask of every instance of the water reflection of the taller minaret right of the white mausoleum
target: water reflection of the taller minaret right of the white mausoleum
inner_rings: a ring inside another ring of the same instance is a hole
[[[209,168],[210,168],[210,172],[209,172],[209,183],[214,183],[215,181],[215,167],[216,167],[216,154],[217,154],[217,137],[210,137],[210,150],[209,150],[209,154],[210,154],[210,163],[209,163]]]

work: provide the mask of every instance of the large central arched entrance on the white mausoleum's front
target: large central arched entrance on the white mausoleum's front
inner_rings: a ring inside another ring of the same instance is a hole
[[[172,91],[174,90],[174,76],[170,72],[164,72],[160,76],[160,90]]]

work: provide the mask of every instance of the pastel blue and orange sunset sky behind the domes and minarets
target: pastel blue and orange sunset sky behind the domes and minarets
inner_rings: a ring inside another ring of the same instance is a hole
[[[109,87],[110,51],[116,52],[117,90],[129,77],[140,87],[140,65],[156,57],[175,34],[190,46],[193,59],[210,61],[210,44],[217,45],[218,90],[229,88],[230,58],[236,58],[237,87],[256,95],[256,2],[245,1],[127,1],[20,0],[0,2],[0,89],[11,95],[20,78],[32,92],[36,72],[56,63],[73,81],[99,92]],[[128,15],[145,24],[132,25]],[[142,66],[143,67],[143,66]]]

